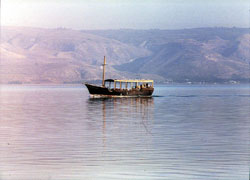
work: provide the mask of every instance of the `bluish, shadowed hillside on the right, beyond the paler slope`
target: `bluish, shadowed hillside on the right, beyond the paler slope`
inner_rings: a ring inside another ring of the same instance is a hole
[[[177,82],[249,82],[250,34],[241,28],[91,31],[144,47],[151,56],[116,66]]]

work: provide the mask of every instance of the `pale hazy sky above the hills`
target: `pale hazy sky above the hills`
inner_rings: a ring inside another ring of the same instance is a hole
[[[250,27],[250,0],[1,0],[1,25],[72,29]]]

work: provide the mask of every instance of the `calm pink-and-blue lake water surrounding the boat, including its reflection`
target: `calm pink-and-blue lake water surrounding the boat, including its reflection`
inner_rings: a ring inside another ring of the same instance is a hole
[[[249,85],[156,86],[154,95],[1,86],[0,179],[249,179]]]

